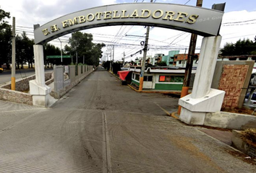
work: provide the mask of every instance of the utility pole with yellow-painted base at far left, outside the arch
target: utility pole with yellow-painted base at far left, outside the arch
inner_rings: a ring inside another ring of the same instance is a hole
[[[11,89],[15,90],[15,69],[16,69],[16,51],[15,51],[15,17],[12,17],[12,84]]]

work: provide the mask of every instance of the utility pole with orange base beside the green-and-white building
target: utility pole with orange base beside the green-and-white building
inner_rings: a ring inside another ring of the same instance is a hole
[[[150,2],[152,3],[153,0],[150,0]],[[140,70],[140,86],[139,86],[139,91],[142,91],[142,88],[143,88],[145,61],[146,61],[147,51],[148,51],[148,35],[149,35],[149,30],[150,30],[150,26],[147,27],[147,32],[146,32],[144,52],[143,52],[143,59],[142,59],[142,66],[141,66],[141,70]]]

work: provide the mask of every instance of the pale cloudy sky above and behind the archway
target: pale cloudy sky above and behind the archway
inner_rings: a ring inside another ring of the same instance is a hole
[[[33,25],[43,25],[57,17],[65,14],[77,12],[82,9],[88,9],[95,6],[120,3],[141,3],[150,2],[150,0],[1,0],[1,9],[11,13],[11,17],[16,18],[17,34],[25,31],[27,35],[33,38]],[[153,0],[155,3],[186,4],[195,6],[196,0]],[[202,7],[211,9],[213,4],[226,2],[225,14],[221,25],[222,42],[221,47],[226,43],[235,43],[239,39],[254,40],[256,35],[256,1],[255,0],[203,0]],[[12,20],[9,20],[12,24]],[[143,37],[131,37],[125,35],[145,36],[146,29],[142,26],[114,26],[98,27],[90,30],[83,30],[93,34],[95,43],[105,43],[106,45],[115,45],[114,59],[121,61],[123,53],[126,60],[134,60],[142,55],[137,54],[131,57],[131,54],[142,49],[140,42]],[[69,35],[60,37],[62,46],[68,42]],[[168,54],[168,50],[180,50],[184,53],[188,50],[190,34],[177,30],[153,27],[150,30],[150,40],[148,56],[154,56],[155,53]],[[200,52],[202,37],[197,37],[196,52]],[[59,40],[51,41],[60,47]],[[107,53],[110,53],[110,47],[103,49],[104,58],[107,59]],[[187,50],[186,50],[187,49]]]

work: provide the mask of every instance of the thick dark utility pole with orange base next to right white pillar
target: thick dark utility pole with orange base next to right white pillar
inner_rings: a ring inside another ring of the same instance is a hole
[[[202,6],[202,0],[197,0],[197,6]],[[195,55],[195,45],[197,44],[197,35],[191,34],[189,43],[189,52],[187,55],[187,65],[184,74],[184,81],[182,86],[181,98],[189,93],[189,83],[191,78],[191,71],[193,66],[193,56]],[[179,106],[178,115],[180,114],[182,107]]]

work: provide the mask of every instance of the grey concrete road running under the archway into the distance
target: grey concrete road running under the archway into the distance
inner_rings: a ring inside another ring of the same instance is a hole
[[[0,172],[256,172],[166,116],[177,101],[97,70],[51,108],[0,102]]]

